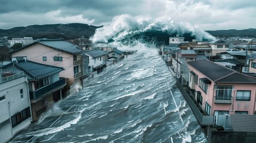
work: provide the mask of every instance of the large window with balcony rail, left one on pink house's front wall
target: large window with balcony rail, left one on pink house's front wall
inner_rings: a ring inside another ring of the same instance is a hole
[[[231,100],[233,86],[217,86],[216,100]]]

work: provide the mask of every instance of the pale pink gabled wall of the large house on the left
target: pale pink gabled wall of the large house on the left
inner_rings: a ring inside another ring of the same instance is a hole
[[[63,61],[54,61],[53,57],[63,57]],[[60,72],[60,77],[65,77],[69,79],[68,85],[71,86],[75,83],[74,80],[74,70],[73,70],[73,55],[67,54],[66,52],[61,52],[49,48],[48,46],[36,43],[21,51],[14,52],[12,57],[27,57],[27,60],[34,61],[36,63],[47,64],[56,67],[63,67],[64,70]],[[43,61],[43,57],[47,57],[47,61]],[[78,60],[81,59],[81,54],[77,54]],[[81,68],[79,66],[79,71]]]

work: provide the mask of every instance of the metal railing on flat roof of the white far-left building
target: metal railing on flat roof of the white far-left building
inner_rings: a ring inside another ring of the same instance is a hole
[[[23,71],[3,71],[0,73],[0,84],[24,76]]]

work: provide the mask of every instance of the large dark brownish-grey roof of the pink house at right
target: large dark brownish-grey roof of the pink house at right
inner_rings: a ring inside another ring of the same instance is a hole
[[[221,66],[209,60],[189,61],[190,66],[200,71],[214,82],[221,83],[256,83],[256,78],[238,73],[228,67]]]

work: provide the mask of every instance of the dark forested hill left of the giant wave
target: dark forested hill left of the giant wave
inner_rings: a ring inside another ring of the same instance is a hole
[[[80,35],[90,37],[94,35],[95,29],[98,27],[101,26],[90,26],[82,23],[31,25],[6,30],[0,29],[0,37],[8,36],[8,39],[23,37],[33,37],[33,39],[63,38],[69,40],[79,38]]]

